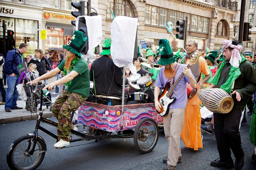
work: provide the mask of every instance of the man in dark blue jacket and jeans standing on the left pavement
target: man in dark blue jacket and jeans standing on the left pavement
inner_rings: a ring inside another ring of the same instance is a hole
[[[4,72],[7,80],[7,91],[5,98],[5,111],[11,112],[11,109],[22,109],[17,106],[18,91],[16,85],[19,84],[19,71],[17,66],[24,62],[24,53],[27,52],[28,46],[25,43],[21,43],[19,49],[15,48],[7,52]]]

